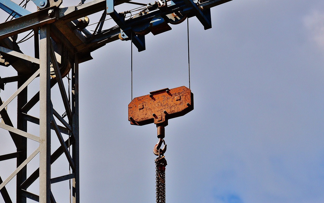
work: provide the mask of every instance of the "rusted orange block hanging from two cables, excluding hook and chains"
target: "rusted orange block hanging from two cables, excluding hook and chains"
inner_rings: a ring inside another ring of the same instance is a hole
[[[185,86],[168,88],[136,97],[128,104],[131,125],[150,123],[168,125],[168,119],[183,116],[193,110],[193,94]]]

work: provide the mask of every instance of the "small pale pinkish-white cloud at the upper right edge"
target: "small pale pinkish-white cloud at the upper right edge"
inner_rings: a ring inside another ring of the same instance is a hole
[[[313,11],[303,18],[303,24],[311,40],[324,49],[324,11]]]

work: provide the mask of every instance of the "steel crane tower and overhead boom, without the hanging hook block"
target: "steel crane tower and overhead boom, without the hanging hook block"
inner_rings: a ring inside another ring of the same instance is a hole
[[[127,12],[118,13],[115,6],[123,3],[143,4],[129,0],[93,0],[87,3],[81,1],[77,6],[58,7],[57,2],[62,1],[34,1],[39,11],[30,13],[24,8],[13,8],[15,5],[9,6],[7,0],[0,0],[0,8],[16,18],[0,24],[0,65],[12,66],[17,71],[17,75],[0,78],[2,90],[5,89],[5,83],[17,82],[17,91],[12,96],[5,101],[0,97],[0,101],[4,101],[0,106],[3,119],[0,128],[8,131],[17,149],[0,155],[0,161],[17,159],[17,168],[8,177],[3,179],[0,174],[0,193],[5,203],[13,202],[6,185],[15,176],[17,203],[26,203],[27,199],[56,203],[56,194],[52,193],[51,184],[65,180],[72,180],[72,199],[74,203],[79,203],[78,66],[79,63],[92,59],[92,51],[118,39],[132,40],[138,51],[143,51],[145,34],[168,31],[171,29],[168,23],[178,24],[185,18],[194,16],[203,24],[204,29],[209,29],[210,8],[228,1],[231,0],[159,0],[147,4],[146,11],[125,19]],[[93,33],[78,24],[85,16],[102,11],[102,17]],[[103,29],[107,15],[117,25]],[[181,19],[175,22],[169,15],[180,16]],[[34,33],[34,56],[24,54],[14,40],[15,35],[26,31]],[[70,69],[72,85],[71,90],[67,90],[63,79]],[[39,92],[29,98],[28,87],[38,77]],[[60,92],[63,107],[53,105],[51,91],[54,89]],[[72,95],[71,99],[68,95]],[[14,101],[17,101],[17,115],[10,115],[6,106]],[[64,109],[66,117],[58,113],[55,110],[57,108]],[[37,116],[30,114],[34,109],[39,113]],[[17,121],[17,127],[13,124],[14,120]],[[39,135],[30,132],[33,127],[27,126],[31,123],[32,126],[39,126]],[[64,139],[63,134],[67,138]],[[57,137],[60,143],[56,149],[51,143],[52,136]],[[39,143],[31,154],[27,153],[28,139]],[[39,168],[27,174],[28,163],[38,153]],[[52,177],[51,165],[61,156],[66,158],[72,172]],[[37,182],[37,179],[39,194],[33,194],[29,191],[29,186]]]

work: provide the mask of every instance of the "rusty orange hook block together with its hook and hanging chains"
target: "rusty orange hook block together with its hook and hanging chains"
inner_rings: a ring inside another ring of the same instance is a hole
[[[158,156],[156,163],[156,203],[165,203],[165,167],[167,161],[164,153],[165,126],[168,119],[183,116],[193,110],[193,93],[185,86],[173,89],[162,89],[148,95],[136,97],[128,104],[128,121],[131,125],[147,125],[154,123],[157,127],[159,141],[153,148]],[[161,149],[162,144],[164,144]]]

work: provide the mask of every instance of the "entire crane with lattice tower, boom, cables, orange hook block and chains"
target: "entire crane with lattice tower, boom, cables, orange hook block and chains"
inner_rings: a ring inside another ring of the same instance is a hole
[[[204,30],[210,29],[212,28],[210,9],[229,1],[232,0],[147,0],[145,3],[136,0],[81,0],[78,5],[64,6],[63,0],[22,0],[19,5],[10,0],[0,0],[0,9],[9,15],[5,22],[0,23],[0,65],[10,66],[17,71],[17,75],[0,77],[1,91],[5,90],[6,83],[17,82],[17,91],[10,94],[12,96],[0,105],[0,114],[4,121],[0,123],[0,128],[9,132],[17,149],[15,153],[0,155],[0,161],[17,158],[17,169],[3,181],[0,177],[0,191],[4,202],[12,202],[6,184],[16,176],[17,187],[14,188],[16,194],[12,196],[17,199],[17,203],[29,201],[27,198],[40,203],[56,203],[55,190],[51,190],[51,184],[65,180],[70,182],[72,180],[72,187],[69,184],[70,200],[72,199],[73,203],[80,203],[79,64],[92,60],[93,51],[116,40],[130,41],[131,49],[135,45],[139,52],[144,51],[145,36],[148,33],[157,35],[166,32],[171,30],[170,24],[177,25],[186,19],[188,26],[188,19],[192,17],[201,22]],[[30,12],[26,9],[32,6],[37,6],[37,11]],[[123,10],[117,12],[116,9],[121,7]],[[3,13],[0,15],[3,17]],[[30,38],[34,46],[30,46],[30,43],[26,45],[25,42]],[[22,46],[25,46],[29,53],[33,51],[34,56],[24,54],[20,49]],[[134,99],[132,93],[132,102],[128,105],[128,120],[132,125],[154,123],[157,127],[158,142],[153,149],[153,153],[157,156],[155,159],[157,203],[165,203],[167,161],[164,154],[167,145],[164,137],[168,119],[185,115],[193,110],[193,94],[190,90],[189,29],[188,66],[189,88],[184,86],[166,88]],[[63,79],[69,72],[71,72],[71,77],[68,78],[69,87],[65,88]],[[37,77],[40,82],[33,82],[30,86],[29,84]],[[29,90],[34,90],[35,84],[40,84],[39,92],[29,98]],[[28,86],[31,88],[27,90]],[[55,104],[51,101],[52,88],[59,89],[62,102]],[[5,110],[10,102],[17,102],[17,114],[13,117]],[[57,109],[64,106],[64,115],[61,116],[55,111],[53,103],[55,108],[59,107]],[[39,114],[29,115],[32,108],[35,109],[33,112]],[[57,125],[56,121],[61,124]],[[17,125],[14,126],[13,123]],[[39,125],[39,136],[32,134],[31,128],[28,127],[30,123]],[[51,129],[55,131],[60,141],[58,148],[55,146],[57,143],[51,141],[51,134],[54,134]],[[62,133],[69,138],[64,139]],[[40,143],[28,157],[32,147],[30,145],[27,147],[26,140]],[[30,163],[35,163],[31,160],[38,153],[39,167],[29,175],[26,168],[31,165]],[[69,170],[69,174],[66,174],[60,169],[52,174],[65,175],[51,177],[51,170],[55,169],[51,168],[51,164],[61,160],[58,158],[63,154],[72,172]],[[40,185],[39,193],[33,194],[29,191],[29,186],[37,180]]]

